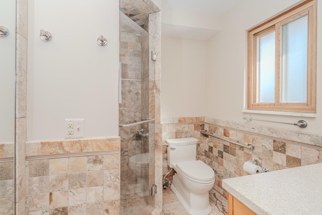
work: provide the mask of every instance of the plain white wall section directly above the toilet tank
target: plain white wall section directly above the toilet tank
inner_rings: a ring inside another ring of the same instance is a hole
[[[163,36],[161,44],[161,116],[204,116],[206,42]]]

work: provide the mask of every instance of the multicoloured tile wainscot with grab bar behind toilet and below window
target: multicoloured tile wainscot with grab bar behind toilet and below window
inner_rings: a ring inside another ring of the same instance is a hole
[[[261,167],[267,167],[269,171],[322,163],[322,147],[316,146],[317,142],[309,144],[304,139],[301,142],[298,141],[298,136],[305,137],[305,135],[308,135],[311,139],[318,140],[321,138],[319,135],[277,129],[279,133],[274,132],[275,136],[270,136],[264,132],[268,128],[265,126],[253,126],[263,131],[262,133],[254,133],[247,130],[247,126],[245,126],[245,129],[240,129],[243,126],[235,126],[236,124],[234,123],[223,121],[214,124],[213,121],[216,122],[217,120],[209,118],[206,118],[206,122],[201,124],[201,130],[206,129],[211,133],[240,142],[241,144],[254,144],[255,150],[252,151],[212,136],[206,137],[199,132],[200,130],[196,130],[196,133],[193,133],[191,131],[192,127],[196,127],[196,125],[186,123],[185,121],[187,120],[185,119],[179,118],[179,120],[175,119],[172,122],[168,120],[168,122],[163,123],[163,139],[197,137],[201,149],[197,152],[197,159],[204,161],[215,171],[215,184],[213,188],[226,198],[227,192],[222,188],[222,180],[248,175],[243,170],[243,165],[247,161],[252,161]],[[179,123],[179,121],[182,123]],[[232,126],[227,126],[229,124]],[[298,134],[296,135],[296,133]],[[285,136],[289,138],[286,139]],[[166,150],[164,150],[163,174],[168,172],[168,169],[167,154]]]

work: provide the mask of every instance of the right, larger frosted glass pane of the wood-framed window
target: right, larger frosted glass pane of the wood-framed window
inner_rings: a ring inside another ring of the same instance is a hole
[[[281,102],[306,103],[307,15],[282,26]]]

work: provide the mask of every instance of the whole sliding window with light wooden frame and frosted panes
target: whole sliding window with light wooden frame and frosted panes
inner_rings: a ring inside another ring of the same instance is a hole
[[[316,112],[316,0],[248,31],[248,109]]]

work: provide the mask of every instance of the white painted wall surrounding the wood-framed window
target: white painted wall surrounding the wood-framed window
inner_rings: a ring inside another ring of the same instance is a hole
[[[213,118],[245,122],[244,108],[246,75],[246,31],[273,15],[297,3],[297,0],[244,0],[221,17],[221,31],[207,41],[206,63],[206,115]],[[253,121],[290,130],[322,133],[322,5],[318,5],[317,29],[317,116],[316,118],[252,114],[254,118],[281,122],[297,122],[304,119],[307,128],[292,125]]]

